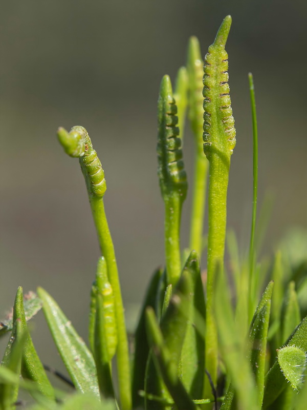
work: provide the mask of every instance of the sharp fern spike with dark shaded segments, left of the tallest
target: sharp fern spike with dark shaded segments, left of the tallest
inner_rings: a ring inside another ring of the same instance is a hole
[[[161,82],[158,100],[158,176],[165,203],[165,256],[167,283],[176,284],[181,273],[180,218],[187,194],[187,178],[179,138],[177,106],[170,78]]]

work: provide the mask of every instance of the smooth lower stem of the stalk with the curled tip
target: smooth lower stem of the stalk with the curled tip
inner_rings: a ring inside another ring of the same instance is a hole
[[[90,204],[101,253],[107,264],[108,279],[114,292],[118,336],[116,358],[121,407],[123,410],[129,410],[131,408],[129,352],[114,245],[106,220],[103,199],[90,196]]]

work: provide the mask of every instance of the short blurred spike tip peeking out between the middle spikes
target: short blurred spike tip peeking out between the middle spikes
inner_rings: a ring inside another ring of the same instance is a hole
[[[183,144],[186,109],[188,104],[188,73],[185,67],[180,67],[176,77],[174,99],[177,105],[179,137]]]

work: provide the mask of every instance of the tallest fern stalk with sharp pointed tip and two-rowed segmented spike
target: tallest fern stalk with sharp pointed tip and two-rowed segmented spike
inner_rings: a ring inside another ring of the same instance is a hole
[[[217,330],[213,319],[214,276],[223,270],[226,236],[226,201],[230,156],[235,146],[235,129],[228,85],[228,54],[225,44],[231,17],[225,17],[204,65],[204,152],[209,160],[209,231],[206,304],[206,369],[213,384],[217,379]],[[205,379],[205,397],[211,394]]]

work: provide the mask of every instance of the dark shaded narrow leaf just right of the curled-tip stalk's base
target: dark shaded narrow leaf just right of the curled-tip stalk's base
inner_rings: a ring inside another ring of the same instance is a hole
[[[156,308],[158,285],[162,273],[163,270],[158,268],[152,275],[135,332],[135,356],[132,379],[133,408],[140,407],[144,402],[143,398],[139,395],[139,391],[144,389],[146,362],[149,355],[149,345],[146,336],[145,311],[147,306],[151,306],[153,309]]]

